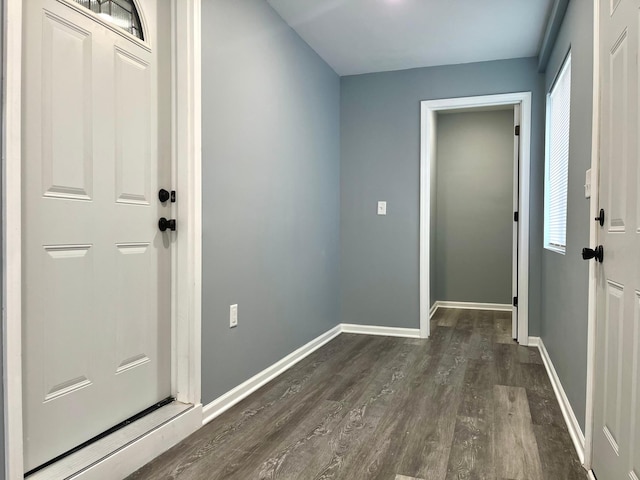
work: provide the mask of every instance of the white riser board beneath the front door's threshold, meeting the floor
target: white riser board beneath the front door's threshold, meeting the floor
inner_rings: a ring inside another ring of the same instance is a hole
[[[187,410],[170,422],[140,437],[69,479],[112,480],[125,478],[166,452],[202,426],[202,405]]]

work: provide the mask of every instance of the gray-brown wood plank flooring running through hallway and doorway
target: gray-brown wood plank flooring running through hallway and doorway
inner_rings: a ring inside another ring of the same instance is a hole
[[[342,334],[129,479],[586,479],[510,329],[440,309],[428,340]]]

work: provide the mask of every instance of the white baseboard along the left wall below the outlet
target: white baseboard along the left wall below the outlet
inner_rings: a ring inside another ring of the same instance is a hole
[[[306,345],[298,348],[296,351],[290,353],[270,367],[265,368],[260,373],[242,382],[237,387],[229,390],[224,395],[216,398],[213,402],[208,403],[202,409],[202,425],[206,425],[214,418],[223,414],[235,404],[247,398],[253,392],[258,390],[260,387],[289,370],[300,360],[311,355],[320,347],[336,338],[338,335],[340,335],[340,333],[342,333],[341,325],[333,327],[331,330],[311,340]]]

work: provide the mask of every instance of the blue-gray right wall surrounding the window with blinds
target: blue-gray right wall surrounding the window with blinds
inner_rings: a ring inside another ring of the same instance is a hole
[[[591,2],[569,2],[546,73],[548,90],[571,47],[567,250],[566,255],[543,250],[541,336],[583,431],[589,265],[580,254],[582,247],[589,244],[592,221],[583,187],[585,172],[591,166],[592,25]]]

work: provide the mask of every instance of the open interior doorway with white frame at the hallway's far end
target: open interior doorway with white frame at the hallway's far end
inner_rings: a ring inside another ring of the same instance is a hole
[[[429,336],[438,306],[487,308],[509,311],[512,337],[528,344],[530,99],[525,92],[421,104],[422,337]],[[482,112],[486,118],[477,118]],[[467,128],[467,139],[451,138],[455,123],[468,127],[474,120],[483,123]],[[494,138],[489,123],[502,128],[502,136]],[[451,157],[441,169],[438,154]],[[460,155],[484,162],[486,170],[460,163]],[[489,176],[500,177],[493,192],[484,188]]]

